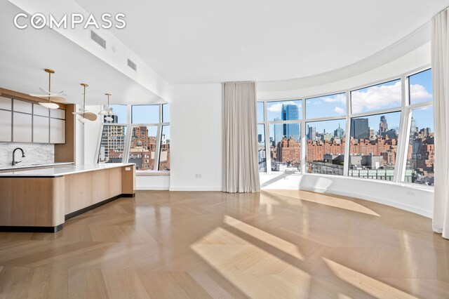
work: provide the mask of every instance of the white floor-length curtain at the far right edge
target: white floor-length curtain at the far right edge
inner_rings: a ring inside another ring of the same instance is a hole
[[[433,228],[449,239],[449,8],[432,20],[431,51],[436,159]]]

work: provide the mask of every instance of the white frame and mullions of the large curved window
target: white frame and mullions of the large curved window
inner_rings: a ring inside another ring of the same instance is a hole
[[[266,151],[266,161],[267,161],[267,171],[266,172],[260,172],[260,173],[266,173],[271,174],[272,172],[276,173],[276,171],[272,171],[271,168],[271,155],[269,154],[270,145],[269,145],[269,126],[270,124],[300,124],[300,145],[301,145],[301,172],[297,174],[301,175],[325,175],[325,174],[319,174],[319,173],[307,173],[306,167],[307,167],[307,137],[306,137],[306,124],[309,122],[314,121],[328,121],[328,120],[337,120],[337,119],[344,119],[346,121],[346,127],[344,128],[344,134],[345,138],[348,138],[348,132],[351,131],[351,119],[358,118],[358,117],[368,117],[372,115],[377,114],[386,114],[391,112],[400,112],[401,113],[401,120],[399,123],[400,126],[400,132],[398,135],[398,150],[396,152],[396,164],[394,167],[394,178],[391,181],[385,181],[385,180],[373,180],[371,178],[356,178],[360,180],[369,180],[370,182],[382,182],[382,183],[400,183],[400,184],[406,184],[408,186],[415,186],[415,187],[422,187],[424,189],[433,190],[434,187],[432,186],[424,186],[424,185],[417,185],[413,182],[405,182],[405,175],[406,175],[406,163],[407,163],[407,150],[408,150],[408,143],[410,141],[410,126],[411,126],[411,116],[413,109],[422,108],[434,105],[434,97],[432,96],[431,101],[427,102],[419,102],[415,104],[410,104],[410,88],[409,88],[409,77],[413,76],[414,74],[419,74],[420,72],[424,72],[427,69],[431,69],[431,65],[424,65],[422,67],[419,67],[417,69],[413,69],[409,72],[404,72],[403,74],[400,74],[398,76],[385,78],[382,80],[377,80],[370,82],[368,84],[363,84],[360,86],[355,86],[354,88],[347,88],[344,90],[337,90],[337,91],[330,91],[328,93],[317,93],[317,94],[306,94],[304,96],[298,96],[298,97],[289,97],[289,98],[274,98],[274,99],[257,99],[257,102],[264,102],[264,121],[257,120],[257,124],[263,124],[264,125],[264,132],[265,132],[265,151]],[[359,112],[359,113],[352,113],[352,107],[351,107],[351,92],[357,91],[359,89],[368,88],[370,86],[376,86],[379,84],[388,83],[391,81],[401,80],[401,105],[394,108],[386,108],[386,109],[376,109],[370,112]],[[306,100],[309,98],[318,98],[323,97],[326,95],[335,95],[339,93],[346,93],[346,114],[344,116],[334,116],[334,117],[319,117],[319,118],[306,118]],[[297,121],[267,121],[267,103],[268,102],[279,102],[279,101],[288,101],[288,100],[301,100],[302,102],[302,119]],[[268,140],[268,142],[267,142]],[[345,142],[344,146],[344,171],[343,171],[343,177],[348,178],[355,178],[349,176],[349,145],[350,142]],[[279,172],[281,173],[281,172]],[[334,175],[332,175],[334,176]]]

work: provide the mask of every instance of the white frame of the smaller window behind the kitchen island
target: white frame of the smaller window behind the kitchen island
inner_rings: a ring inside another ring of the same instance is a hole
[[[95,152],[95,164],[99,164],[99,154],[100,154],[100,146],[101,146],[101,140],[102,140],[102,132],[103,132],[103,127],[104,126],[124,126],[126,127],[126,135],[125,135],[125,144],[124,144],[124,148],[123,148],[123,160],[122,163],[128,163],[129,161],[129,153],[130,153],[130,145],[131,145],[131,137],[132,137],[132,131],[133,131],[133,127],[138,127],[138,126],[156,126],[156,152],[154,154],[154,168],[156,169],[148,169],[148,170],[142,170],[142,171],[136,171],[136,175],[140,175],[140,174],[145,174],[148,173],[149,171],[152,172],[160,172],[160,173],[170,173],[170,171],[160,171],[159,170],[159,161],[160,161],[160,157],[161,157],[161,139],[162,139],[162,127],[163,126],[170,126],[170,121],[166,121],[163,122],[163,113],[162,113],[162,107],[163,105],[169,105],[169,103],[158,103],[158,104],[114,104],[114,105],[126,105],[127,106],[127,122],[126,123],[122,123],[122,124],[112,124],[112,123],[108,123],[103,121],[102,117],[101,119],[101,124],[100,124],[100,136],[98,138],[98,145],[97,145],[97,150]],[[158,105],[159,109],[159,122],[157,123],[142,123],[142,124],[133,124],[132,121],[132,111],[133,111],[133,106],[142,106],[142,105]],[[150,157],[151,158],[151,157]]]

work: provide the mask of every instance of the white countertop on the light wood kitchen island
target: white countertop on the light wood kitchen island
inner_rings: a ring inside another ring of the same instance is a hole
[[[67,166],[59,166],[55,168],[42,168],[42,169],[33,169],[30,171],[11,171],[8,173],[0,173],[0,178],[8,178],[8,177],[58,177],[62,175],[71,175],[74,173],[83,173],[87,171],[100,171],[106,168],[115,168],[122,166],[132,166],[133,163],[105,163],[105,164],[91,164],[91,165],[67,165]]]

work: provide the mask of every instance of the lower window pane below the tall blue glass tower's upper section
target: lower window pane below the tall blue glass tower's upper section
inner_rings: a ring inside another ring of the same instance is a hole
[[[270,124],[272,171],[301,171],[301,125]]]

